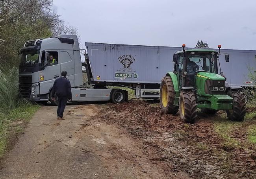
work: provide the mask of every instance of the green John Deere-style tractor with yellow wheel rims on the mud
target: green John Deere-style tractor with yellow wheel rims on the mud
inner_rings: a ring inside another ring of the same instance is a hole
[[[219,54],[210,49],[183,50],[173,55],[174,70],[162,79],[160,105],[164,113],[176,114],[186,123],[194,123],[197,108],[207,114],[224,110],[230,120],[245,117],[246,96],[240,86],[225,86],[223,72],[218,74]],[[221,45],[218,46],[219,52]],[[229,61],[228,54],[225,55]],[[219,66],[220,69],[220,66]]]

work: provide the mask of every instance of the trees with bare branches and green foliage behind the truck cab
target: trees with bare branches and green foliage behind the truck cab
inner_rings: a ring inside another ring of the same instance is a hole
[[[24,42],[59,34],[77,34],[52,9],[52,0],[0,1],[0,64],[18,66]]]

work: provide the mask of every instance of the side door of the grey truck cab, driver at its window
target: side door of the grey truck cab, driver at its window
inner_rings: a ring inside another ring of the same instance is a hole
[[[60,76],[59,50],[45,50],[50,54],[45,69],[39,72],[40,94],[49,93],[55,79]]]

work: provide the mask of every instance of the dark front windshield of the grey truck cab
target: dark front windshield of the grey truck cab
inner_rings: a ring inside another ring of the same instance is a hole
[[[25,51],[20,54],[20,66],[33,66],[39,62],[40,50]]]

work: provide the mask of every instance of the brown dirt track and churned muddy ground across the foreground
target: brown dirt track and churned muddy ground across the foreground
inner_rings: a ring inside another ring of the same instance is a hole
[[[55,113],[45,106],[35,114],[0,161],[0,178],[256,178],[256,145],[247,133],[255,119],[234,123],[227,140],[216,131],[227,120],[222,111],[198,111],[192,125],[139,100],[69,105],[64,121]]]

